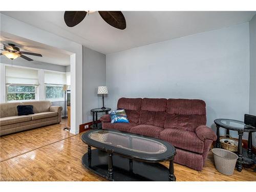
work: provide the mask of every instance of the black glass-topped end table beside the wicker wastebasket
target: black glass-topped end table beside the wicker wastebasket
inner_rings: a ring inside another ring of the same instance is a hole
[[[248,132],[248,157],[254,156],[252,153],[252,132],[256,132],[256,127],[244,124],[243,121],[233,120],[233,119],[215,119],[214,120],[217,127],[217,142],[216,148],[220,148],[220,127],[226,129],[226,135],[229,135],[229,130],[238,132],[238,163],[237,170],[239,172],[243,169],[243,157],[242,157],[242,137],[244,132]]]

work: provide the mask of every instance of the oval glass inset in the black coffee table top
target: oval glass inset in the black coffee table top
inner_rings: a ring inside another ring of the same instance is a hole
[[[122,132],[99,130],[90,133],[88,137],[104,144],[137,153],[162,154],[167,151],[167,147],[161,142]]]

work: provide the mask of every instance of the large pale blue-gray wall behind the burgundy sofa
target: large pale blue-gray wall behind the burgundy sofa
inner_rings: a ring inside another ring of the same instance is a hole
[[[249,25],[108,54],[106,86],[113,109],[120,97],[196,98],[206,102],[207,125],[214,129],[217,118],[243,120],[249,109]]]

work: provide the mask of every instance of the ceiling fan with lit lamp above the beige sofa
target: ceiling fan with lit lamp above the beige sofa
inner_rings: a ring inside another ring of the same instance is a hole
[[[38,54],[38,53],[31,53],[31,52],[25,52],[25,51],[19,51],[19,48],[16,47],[16,45],[14,44],[3,44],[4,45],[4,49],[1,49],[3,50],[2,53],[0,53],[0,56],[1,55],[5,55],[6,57],[8,57],[9,59],[13,60],[13,59],[16,59],[17,57],[22,57],[28,61],[32,61],[33,59],[25,56],[25,55],[34,55],[34,56],[39,56],[39,57],[42,57],[41,54]],[[25,54],[25,55],[23,55]]]

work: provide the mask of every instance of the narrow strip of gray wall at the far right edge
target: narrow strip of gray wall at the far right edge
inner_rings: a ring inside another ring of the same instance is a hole
[[[250,99],[249,113],[256,115],[256,15],[250,25]]]

